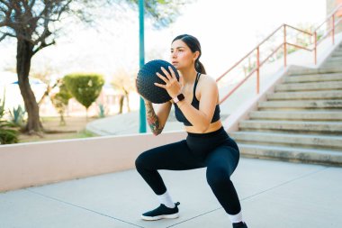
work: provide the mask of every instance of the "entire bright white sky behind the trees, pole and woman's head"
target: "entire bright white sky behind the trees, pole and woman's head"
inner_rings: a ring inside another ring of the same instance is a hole
[[[145,25],[146,61],[169,60],[170,43],[182,33],[197,37],[202,45],[201,61],[207,73],[218,78],[247,51],[255,48],[283,23],[290,25],[322,22],[326,0],[197,0],[185,6],[175,23],[156,31]],[[15,42],[0,43],[0,71],[14,68]],[[139,69],[138,14],[129,12],[124,20],[104,20],[97,30],[73,27],[57,45],[41,50],[32,68],[52,66],[58,75],[92,71],[106,78],[120,68]]]

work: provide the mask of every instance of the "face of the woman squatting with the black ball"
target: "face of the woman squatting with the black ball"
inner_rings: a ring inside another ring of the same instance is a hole
[[[178,70],[191,68],[197,58],[196,52],[193,53],[184,41],[176,40],[171,44],[171,63]]]

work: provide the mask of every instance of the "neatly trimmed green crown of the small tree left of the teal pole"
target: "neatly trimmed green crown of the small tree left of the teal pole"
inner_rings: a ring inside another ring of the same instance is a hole
[[[64,78],[67,90],[88,110],[100,95],[104,79],[97,74],[72,74]]]

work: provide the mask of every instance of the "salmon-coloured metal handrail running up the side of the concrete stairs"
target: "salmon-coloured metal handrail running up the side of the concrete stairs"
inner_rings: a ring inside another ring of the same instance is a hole
[[[277,50],[280,50],[282,47],[284,47],[284,67],[286,67],[286,64],[287,64],[287,59],[286,59],[286,55],[287,55],[287,45],[290,45],[290,46],[293,46],[295,48],[298,48],[298,49],[302,49],[302,50],[309,50],[309,51],[314,51],[314,63],[317,64],[317,46],[320,44],[320,41],[323,41],[325,39],[325,37],[327,35],[329,35],[330,33],[332,33],[332,42],[334,44],[335,42],[335,27],[338,23],[340,23],[341,19],[342,18],[339,18],[337,22],[335,22],[335,14],[338,12],[338,10],[342,7],[342,4],[338,5],[337,7],[335,7],[332,12],[329,14],[329,16],[326,17],[326,19],[324,20],[323,23],[320,23],[320,25],[318,27],[316,27],[316,29],[313,31],[313,32],[307,32],[307,31],[304,31],[302,29],[299,29],[299,28],[296,28],[296,27],[293,27],[292,25],[288,25],[288,24],[282,24],[281,26],[279,26],[278,28],[275,29],[274,32],[271,32],[263,41],[259,42],[257,44],[257,47],[250,50],[242,59],[239,59],[238,62],[236,62],[232,67],[230,67],[227,71],[225,71],[219,78],[216,79],[217,82],[220,81],[221,78],[224,78],[225,76],[227,76],[229,74],[230,71],[232,71],[234,68],[237,68],[238,65],[245,59],[247,59],[247,57],[249,57],[253,52],[255,52],[257,50],[257,66],[256,68],[253,68],[249,73],[248,75],[243,78],[236,87],[233,87],[231,89],[231,91],[229,92],[229,94],[227,96],[224,96],[222,99],[220,99],[220,104],[222,102],[224,102],[229,96],[231,96],[237,89],[238,87],[240,87],[242,84],[244,84],[246,81],[247,81],[247,78],[250,78],[255,72],[257,72],[257,94],[259,94],[259,78],[260,78],[260,68],[266,63],[266,61],[268,59],[270,59]],[[328,32],[323,35],[320,39],[320,41],[317,41],[317,33],[318,33],[318,30],[320,29],[320,27],[324,24],[324,23],[327,23],[327,21],[331,19],[332,20],[332,24],[331,24],[331,29],[328,30]],[[298,44],[294,44],[294,43],[289,43],[287,40],[286,40],[286,28],[290,28],[290,29],[293,29],[297,32],[302,32],[306,35],[309,35],[311,37],[314,38],[314,41],[313,43],[311,43],[311,45],[313,44],[313,47],[310,49],[310,48],[307,48],[307,47],[304,47],[304,46],[301,46],[301,45],[298,45]],[[284,41],[275,49],[271,52],[271,54],[269,54],[266,59],[263,59],[262,61],[260,61],[260,46],[262,44],[264,44],[266,41],[268,41],[272,36],[275,35],[276,32],[278,32],[279,30],[281,29],[284,29]]]

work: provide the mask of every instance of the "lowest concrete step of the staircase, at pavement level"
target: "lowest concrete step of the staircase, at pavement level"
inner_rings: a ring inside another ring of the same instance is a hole
[[[257,144],[247,145],[243,143],[238,143],[238,148],[241,155],[246,158],[342,166],[342,153],[338,151],[265,146]]]

